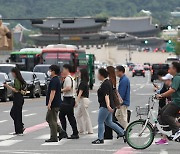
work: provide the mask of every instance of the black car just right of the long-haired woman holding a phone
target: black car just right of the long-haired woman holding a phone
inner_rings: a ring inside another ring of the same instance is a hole
[[[27,83],[27,96],[30,98],[41,96],[40,80],[34,72],[21,71],[22,77]]]

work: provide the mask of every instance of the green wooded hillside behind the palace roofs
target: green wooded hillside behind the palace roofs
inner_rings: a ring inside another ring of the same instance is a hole
[[[46,16],[135,16],[140,10],[150,10],[153,17],[166,23],[169,13],[179,0],[0,0],[3,17]]]

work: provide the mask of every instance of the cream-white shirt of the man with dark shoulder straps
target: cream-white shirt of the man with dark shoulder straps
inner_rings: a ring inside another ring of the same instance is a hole
[[[72,83],[73,82],[73,83]],[[63,88],[71,87],[70,91],[63,92],[64,97],[75,97],[75,81],[71,75],[68,75],[63,84]]]

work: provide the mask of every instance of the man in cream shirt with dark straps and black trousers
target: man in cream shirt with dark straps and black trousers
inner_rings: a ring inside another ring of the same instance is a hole
[[[72,127],[73,134],[68,139],[79,139],[79,132],[77,130],[77,123],[74,116],[75,106],[75,82],[71,74],[71,65],[63,65],[62,75],[65,78],[63,83],[63,102],[60,106],[59,118],[61,121],[62,128],[66,131],[66,116]]]

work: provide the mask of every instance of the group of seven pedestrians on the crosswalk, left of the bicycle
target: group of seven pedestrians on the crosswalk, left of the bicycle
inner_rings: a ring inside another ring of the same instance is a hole
[[[46,121],[50,128],[50,138],[45,142],[58,142],[63,138],[79,139],[80,134],[93,134],[93,127],[88,111],[89,75],[87,69],[79,73],[80,83],[76,89],[75,80],[71,74],[71,65],[65,64],[63,70],[57,65],[51,65],[49,72],[51,80],[46,95]],[[26,92],[26,82],[18,68],[13,68],[14,86],[4,83],[14,92],[13,106],[10,112],[14,120],[15,134],[23,135],[25,130],[22,122],[23,95]],[[116,76],[120,77],[118,86]],[[105,127],[110,127],[117,133],[117,138],[124,137],[128,125],[127,109],[130,105],[130,81],[125,75],[123,66],[107,67],[98,70],[97,78],[100,87],[97,91],[99,102],[98,136],[92,144],[104,143]],[[118,87],[118,88],[117,88]],[[74,112],[76,108],[76,112]],[[60,124],[58,123],[58,115]],[[114,122],[114,118],[118,122]],[[67,121],[72,128],[72,134],[67,134]]]

